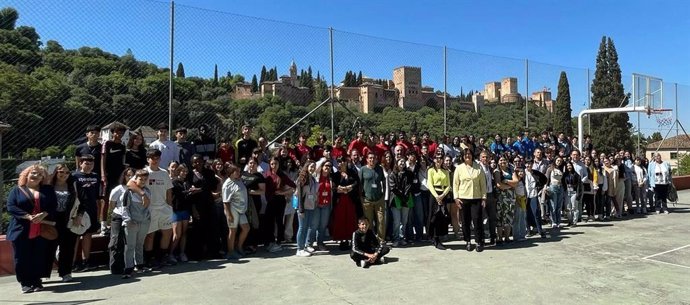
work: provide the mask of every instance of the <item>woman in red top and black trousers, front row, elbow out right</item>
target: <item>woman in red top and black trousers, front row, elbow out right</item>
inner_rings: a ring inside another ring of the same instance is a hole
[[[285,204],[287,203],[285,196],[292,196],[295,183],[280,170],[278,158],[271,158],[268,164],[270,170],[264,173],[266,178],[266,201],[268,201],[265,219],[268,220],[268,223],[264,227],[263,236],[269,252],[280,252],[283,250],[280,244],[285,236],[283,234],[285,232],[283,215],[285,214]],[[276,226],[278,228],[277,231]]]

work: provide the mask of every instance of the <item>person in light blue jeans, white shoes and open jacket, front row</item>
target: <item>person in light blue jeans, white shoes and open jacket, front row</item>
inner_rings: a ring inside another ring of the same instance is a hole
[[[314,248],[307,243],[309,233],[312,230],[314,209],[316,208],[316,198],[319,190],[319,183],[314,178],[316,164],[308,161],[300,170],[297,177],[297,253],[298,257],[309,257],[314,252]]]

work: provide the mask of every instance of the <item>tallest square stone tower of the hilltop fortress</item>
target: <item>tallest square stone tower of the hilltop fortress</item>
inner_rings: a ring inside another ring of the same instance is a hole
[[[393,69],[393,84],[398,89],[398,106],[417,109],[422,101],[422,68],[402,66]]]

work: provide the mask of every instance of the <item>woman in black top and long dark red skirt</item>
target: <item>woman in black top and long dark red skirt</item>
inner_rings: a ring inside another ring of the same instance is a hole
[[[326,162],[324,166],[327,166]],[[338,172],[333,174],[335,201],[333,202],[333,223],[331,238],[340,240],[340,250],[348,250],[352,232],[357,229],[356,204],[359,204],[357,172],[348,168],[347,158],[339,158]]]

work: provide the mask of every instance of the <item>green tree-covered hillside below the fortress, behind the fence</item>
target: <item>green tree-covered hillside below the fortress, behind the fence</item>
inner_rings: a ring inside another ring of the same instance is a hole
[[[0,121],[12,125],[3,136],[3,157],[35,158],[73,155],[74,145],[89,124],[103,126],[120,121],[137,128],[155,126],[168,119],[169,70],[135,57],[133,52],[116,55],[97,47],[65,49],[58,41],[43,42],[36,29],[16,26],[19,13],[12,8],[0,11]],[[300,84],[315,91],[310,105],[299,106],[276,97],[235,100],[231,94],[238,83],[251,82],[252,91],[261,81],[276,80],[277,68],[262,67],[258,77],[245,79],[223,73],[211,64],[213,77],[190,76],[178,63],[173,74],[173,115],[175,126],[192,130],[202,123],[211,126],[216,137],[235,139],[245,122],[255,124],[259,135],[269,139],[279,135],[327,96],[327,85],[311,68],[300,71]],[[350,71],[345,82],[361,82],[361,72]],[[443,112],[424,107],[406,111],[389,107],[380,113],[363,114],[348,105],[358,117],[336,105],[335,132],[351,136],[356,128],[373,132],[396,130],[443,133]],[[448,107],[451,135],[495,133],[515,134],[523,130],[525,104],[487,105],[480,113]],[[530,129],[551,126],[549,113],[529,106]],[[318,109],[289,135],[299,132],[330,135],[330,107]],[[190,137],[193,137],[193,133]]]

